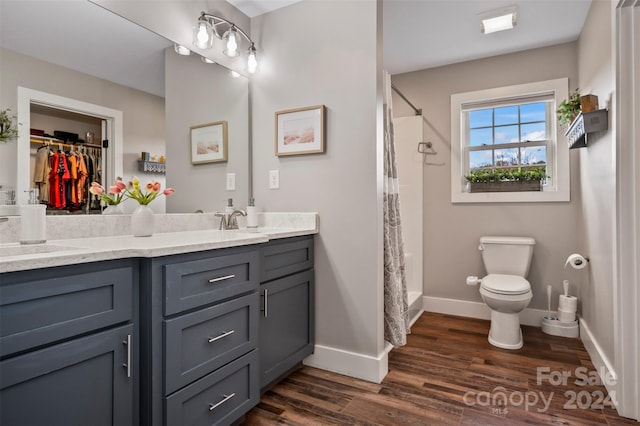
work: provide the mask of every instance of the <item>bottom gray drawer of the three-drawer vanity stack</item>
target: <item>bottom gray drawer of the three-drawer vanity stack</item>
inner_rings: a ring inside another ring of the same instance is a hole
[[[259,402],[258,376],[254,350],[166,398],[165,424],[231,424]]]

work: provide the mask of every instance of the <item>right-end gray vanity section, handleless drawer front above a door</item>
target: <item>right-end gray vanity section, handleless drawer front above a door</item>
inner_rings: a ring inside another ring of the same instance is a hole
[[[261,250],[260,388],[264,392],[313,353],[313,236]]]

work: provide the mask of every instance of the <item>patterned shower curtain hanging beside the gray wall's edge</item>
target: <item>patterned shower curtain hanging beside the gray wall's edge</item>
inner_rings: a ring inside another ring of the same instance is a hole
[[[384,91],[384,339],[394,347],[407,343],[409,303],[404,266],[398,174],[393,140],[391,75]]]

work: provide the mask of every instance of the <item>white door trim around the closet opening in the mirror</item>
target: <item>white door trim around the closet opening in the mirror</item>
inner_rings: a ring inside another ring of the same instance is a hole
[[[92,115],[107,121],[110,127],[108,134],[112,135],[107,159],[110,167],[105,170],[102,177],[103,183],[113,182],[116,176],[122,176],[122,152],[123,152],[123,130],[122,111],[94,105],[76,99],[65,98],[51,93],[40,92],[25,87],[18,87],[18,123],[22,130],[18,133],[18,147],[16,154],[16,203],[26,204],[31,182],[31,166],[29,161],[30,151],[30,131],[31,129],[31,104],[45,105],[66,111],[77,112],[85,115]],[[25,131],[26,130],[26,131]]]

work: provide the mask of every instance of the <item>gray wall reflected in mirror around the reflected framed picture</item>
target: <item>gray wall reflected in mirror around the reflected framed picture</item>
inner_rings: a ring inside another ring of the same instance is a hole
[[[249,198],[249,85],[226,68],[205,64],[198,55],[165,52],[167,182],[176,192],[167,212],[224,211],[227,198],[244,208]],[[226,121],[228,161],[191,164],[190,127]],[[236,174],[236,190],[226,190],[226,174]]]

